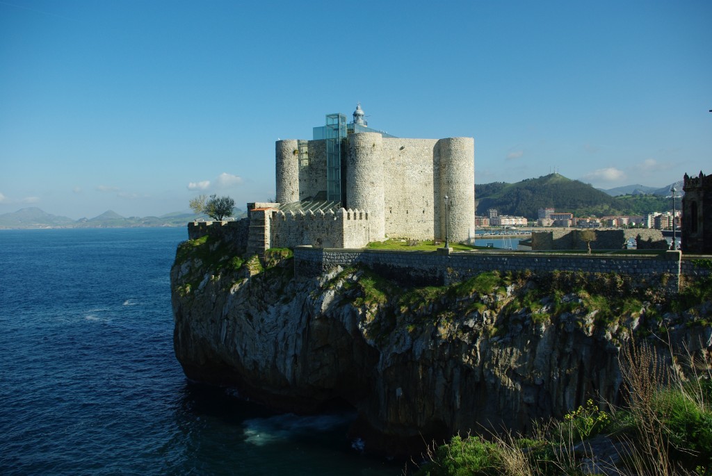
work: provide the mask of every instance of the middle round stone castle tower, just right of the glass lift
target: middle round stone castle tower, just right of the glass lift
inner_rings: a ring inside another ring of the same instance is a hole
[[[346,206],[369,212],[370,241],[385,238],[382,139],[377,132],[349,136]]]

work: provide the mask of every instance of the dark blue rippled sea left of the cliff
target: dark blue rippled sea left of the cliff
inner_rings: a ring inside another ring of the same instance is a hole
[[[0,230],[1,475],[399,475],[349,413],[192,384],[169,270],[185,228]]]

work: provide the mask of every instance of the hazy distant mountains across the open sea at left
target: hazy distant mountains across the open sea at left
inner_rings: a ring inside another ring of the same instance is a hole
[[[243,216],[239,208],[234,211],[234,216]],[[13,213],[0,215],[0,228],[133,228],[140,226],[186,226],[188,222],[197,219],[206,219],[205,216],[194,213],[174,212],[162,216],[120,216],[115,211],[105,211],[94,218],[80,218],[73,220],[66,216],[52,215],[37,207],[22,208]],[[209,219],[209,218],[207,218]]]

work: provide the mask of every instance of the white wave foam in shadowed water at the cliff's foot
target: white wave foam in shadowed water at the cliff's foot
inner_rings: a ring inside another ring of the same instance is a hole
[[[353,418],[348,414],[297,416],[293,413],[269,418],[251,418],[243,422],[245,441],[256,446],[268,445],[276,441],[288,440],[300,433],[329,431]]]

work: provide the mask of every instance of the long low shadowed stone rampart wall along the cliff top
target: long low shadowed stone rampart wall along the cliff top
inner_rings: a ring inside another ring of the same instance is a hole
[[[565,255],[544,253],[462,252],[450,255],[417,251],[330,250],[295,248],[295,275],[316,277],[327,270],[356,264],[367,265],[377,273],[412,285],[444,285],[464,280],[485,271],[586,271],[620,273],[640,279],[667,280],[670,292],[677,292],[680,275],[680,253],[663,255]]]

